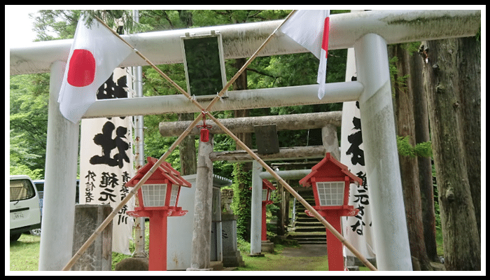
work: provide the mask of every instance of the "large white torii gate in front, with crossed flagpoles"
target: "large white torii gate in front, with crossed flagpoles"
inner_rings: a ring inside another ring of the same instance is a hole
[[[239,58],[252,55],[262,43],[261,38],[269,36],[281,22],[157,31],[123,37],[154,64],[170,64],[182,62],[180,37],[186,32],[209,34],[216,30],[223,36],[225,59]],[[230,98],[218,102],[214,110],[358,100],[373,202],[372,220],[382,225],[374,228],[378,269],[411,270],[386,45],[475,36],[479,26],[479,10],[373,10],[331,15],[329,49],[354,48],[358,69],[356,82],[328,84],[322,100],[314,98],[318,85],[283,89],[286,93],[274,89],[229,92]],[[71,41],[38,42],[10,48],[11,75],[51,73],[39,270],[61,270],[72,255],[75,188],[66,186],[73,185],[76,179],[78,124],[66,120],[57,104]],[[307,50],[287,36],[274,36],[259,55],[295,52]],[[120,66],[144,64],[133,54]],[[104,100],[90,107],[84,118],[199,111],[190,103],[182,96]],[[205,102],[202,104],[207,106]]]

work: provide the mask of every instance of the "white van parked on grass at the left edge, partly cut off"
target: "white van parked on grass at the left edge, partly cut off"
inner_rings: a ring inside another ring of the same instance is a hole
[[[34,183],[25,175],[10,176],[10,241],[41,228],[41,207]]]

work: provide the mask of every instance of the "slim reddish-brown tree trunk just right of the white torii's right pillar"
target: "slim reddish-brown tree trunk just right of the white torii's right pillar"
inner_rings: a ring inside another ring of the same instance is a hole
[[[416,79],[416,73],[411,69],[410,61],[414,59],[401,44],[393,45],[393,55],[398,57],[396,63],[397,73],[395,80],[407,76],[406,83],[395,83],[396,122],[398,136],[410,137],[410,144],[415,144],[415,120],[414,120],[414,88],[412,78]],[[418,58],[418,57],[416,57]],[[414,264],[414,269],[433,270],[426,253],[423,241],[423,221],[421,192],[419,185],[419,165],[416,157],[400,155],[400,172],[402,175],[403,200],[407,216],[407,229],[410,244],[410,253],[419,264]]]

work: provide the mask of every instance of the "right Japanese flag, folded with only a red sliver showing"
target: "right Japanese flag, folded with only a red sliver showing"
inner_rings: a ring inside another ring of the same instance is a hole
[[[318,98],[325,95],[325,76],[327,75],[327,51],[330,10],[297,10],[279,28],[283,34],[307,48],[318,59]]]

